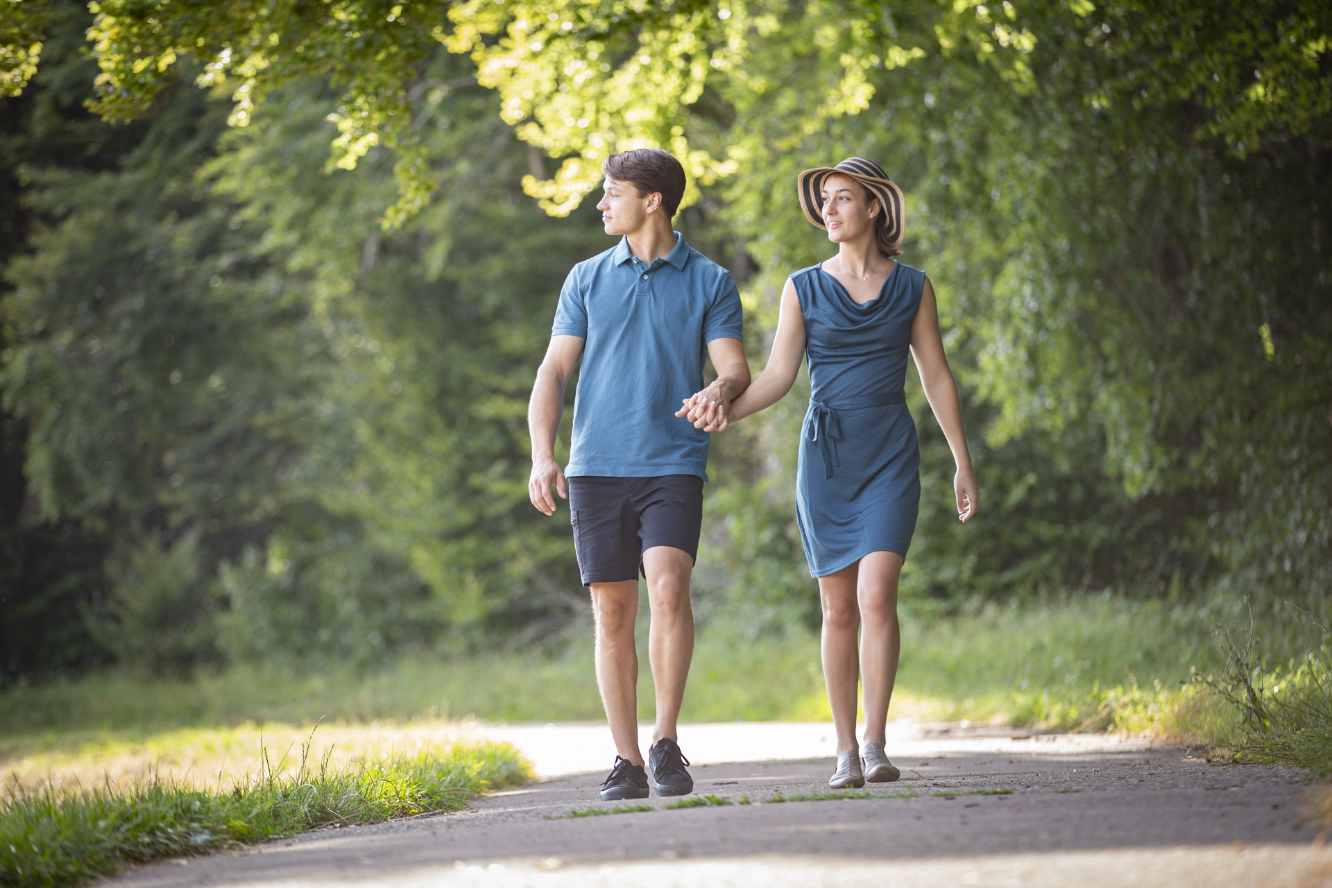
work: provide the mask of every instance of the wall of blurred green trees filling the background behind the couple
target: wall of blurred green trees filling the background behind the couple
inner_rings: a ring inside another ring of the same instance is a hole
[[[829,253],[794,174],[906,189],[984,497],[959,527],[911,389],[912,607],[1328,614],[1325,4],[9,5],[4,680],[558,640],[583,591],[525,403],[610,245],[581,198],[639,144],[685,160],[755,367]],[[803,406],[714,439],[697,594],[730,631],[818,619]]]

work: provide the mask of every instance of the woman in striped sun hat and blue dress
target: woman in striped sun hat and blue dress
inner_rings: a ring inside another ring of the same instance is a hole
[[[777,403],[809,357],[795,509],[823,604],[823,678],[838,742],[829,785],[860,787],[899,777],[883,746],[900,646],[898,578],[920,502],[915,423],[902,391],[908,349],[956,463],[959,521],[976,514],[978,491],[934,288],[892,258],[902,254],[900,189],[860,157],[805,170],[797,184],[806,218],[827,230],[836,256],[787,278],[773,354],[749,389],[730,405],[701,393],[677,415],[725,429]],[[862,676],[863,758],[855,739]]]

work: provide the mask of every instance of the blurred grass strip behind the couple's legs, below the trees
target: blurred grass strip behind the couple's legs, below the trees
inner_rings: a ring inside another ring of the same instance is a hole
[[[902,650],[896,715],[1084,730],[1143,730],[1179,703],[1191,667],[1203,672],[1224,663],[1196,612],[1114,596],[931,620],[904,608]],[[651,718],[646,656],[639,700],[639,715]],[[189,680],[105,672],[12,687],[0,692],[0,758],[194,726],[469,715],[506,722],[603,719],[590,643],[578,640],[555,656],[421,655],[368,675],[260,664]],[[829,719],[818,639],[750,639],[722,626],[705,628],[682,718]]]

